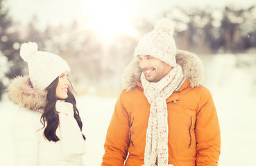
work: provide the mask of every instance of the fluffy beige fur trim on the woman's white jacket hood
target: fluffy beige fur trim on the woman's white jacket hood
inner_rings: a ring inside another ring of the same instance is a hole
[[[46,91],[34,89],[28,75],[12,79],[7,91],[10,101],[19,107],[40,111],[46,104]]]

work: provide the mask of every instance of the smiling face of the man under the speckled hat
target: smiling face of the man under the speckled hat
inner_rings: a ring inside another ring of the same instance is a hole
[[[171,71],[169,64],[150,55],[138,55],[137,58],[148,82],[159,82]]]

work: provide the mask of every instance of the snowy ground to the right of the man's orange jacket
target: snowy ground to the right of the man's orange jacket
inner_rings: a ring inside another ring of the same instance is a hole
[[[256,165],[256,59],[247,57],[216,55],[205,63],[221,126],[220,165]]]

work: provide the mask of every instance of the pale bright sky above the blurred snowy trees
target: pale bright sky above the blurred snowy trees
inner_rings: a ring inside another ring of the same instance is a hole
[[[81,28],[96,29],[107,41],[118,33],[136,36],[136,30],[130,26],[133,18],[155,22],[164,11],[175,6],[223,8],[232,4],[248,8],[256,4],[255,0],[6,0],[6,3],[14,21],[22,25],[34,15],[38,19],[37,28],[42,29],[48,24],[71,24],[76,19],[83,25]]]

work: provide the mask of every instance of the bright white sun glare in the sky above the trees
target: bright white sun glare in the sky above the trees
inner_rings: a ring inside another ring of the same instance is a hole
[[[85,28],[92,28],[102,33],[105,42],[110,42],[114,35],[126,33],[136,35],[130,27],[130,8],[119,0],[89,1],[89,20]]]

